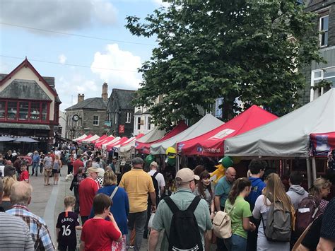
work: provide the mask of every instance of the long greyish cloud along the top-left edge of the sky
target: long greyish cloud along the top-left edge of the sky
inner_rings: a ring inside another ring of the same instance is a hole
[[[0,9],[2,23],[63,32],[117,21],[108,0],[1,0]]]

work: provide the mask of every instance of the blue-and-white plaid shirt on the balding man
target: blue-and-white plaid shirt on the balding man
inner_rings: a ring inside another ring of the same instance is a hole
[[[6,213],[18,216],[27,223],[31,237],[35,243],[35,250],[54,250],[54,244],[52,243],[49,230],[42,218],[30,213],[26,206],[18,204],[13,205]]]

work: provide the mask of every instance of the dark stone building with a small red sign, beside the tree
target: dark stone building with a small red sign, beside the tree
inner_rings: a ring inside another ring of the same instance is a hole
[[[134,105],[131,101],[135,91],[113,89],[107,104],[107,121],[110,122],[109,133],[114,136],[133,136]]]

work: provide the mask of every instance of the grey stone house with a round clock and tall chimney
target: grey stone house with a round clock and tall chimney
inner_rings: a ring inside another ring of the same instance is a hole
[[[103,83],[101,98],[85,99],[78,94],[78,103],[65,109],[67,139],[76,139],[82,134],[105,134],[108,85]]]

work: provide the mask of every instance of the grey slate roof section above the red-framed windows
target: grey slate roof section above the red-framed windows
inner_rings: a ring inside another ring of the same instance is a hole
[[[13,80],[4,91],[1,91],[0,98],[51,100],[36,81],[27,79]]]

